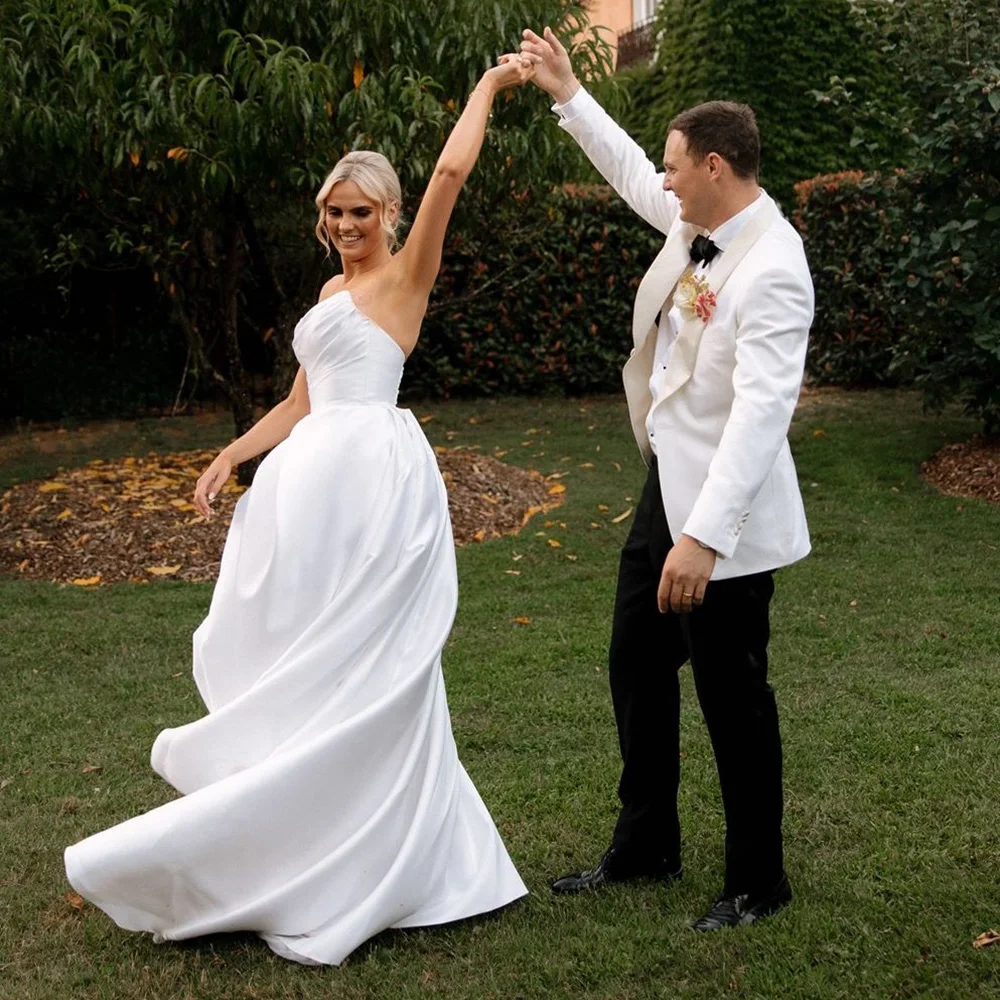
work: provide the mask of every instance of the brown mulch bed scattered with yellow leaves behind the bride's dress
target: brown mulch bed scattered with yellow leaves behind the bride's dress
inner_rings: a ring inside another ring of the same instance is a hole
[[[474,450],[435,448],[455,541],[516,534],[558,506],[565,487]],[[213,451],[95,459],[44,482],[20,483],[0,502],[0,573],[98,586],[159,577],[214,580],[244,487],[222,488],[210,520],[191,503]]]

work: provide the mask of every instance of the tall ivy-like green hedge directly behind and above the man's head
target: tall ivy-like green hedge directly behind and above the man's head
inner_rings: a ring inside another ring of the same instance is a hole
[[[790,207],[804,177],[866,166],[849,122],[814,91],[854,79],[858,99],[896,99],[898,83],[876,58],[848,0],[663,0],[655,65],[618,74],[631,97],[623,124],[659,162],[677,112],[709,100],[753,107],[761,129],[761,180]]]

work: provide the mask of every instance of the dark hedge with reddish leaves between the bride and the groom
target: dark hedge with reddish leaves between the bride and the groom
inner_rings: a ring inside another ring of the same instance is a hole
[[[617,391],[632,303],[663,236],[603,186],[455,234],[407,365],[407,396]]]

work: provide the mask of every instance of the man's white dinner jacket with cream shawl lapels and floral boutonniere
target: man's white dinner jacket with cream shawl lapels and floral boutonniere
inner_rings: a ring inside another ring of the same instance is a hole
[[[557,105],[560,125],[634,212],[667,236],[636,293],[634,347],[623,372],[629,416],[648,465],[656,435],[670,535],[690,535],[719,555],[713,580],[787,566],[810,549],[788,447],[813,317],[802,240],[766,194],[706,278],[717,304],[707,323],[687,319],[671,346],[663,391],[650,415],[661,309],[700,232],[681,222],[677,197],[642,148],[581,88]]]

